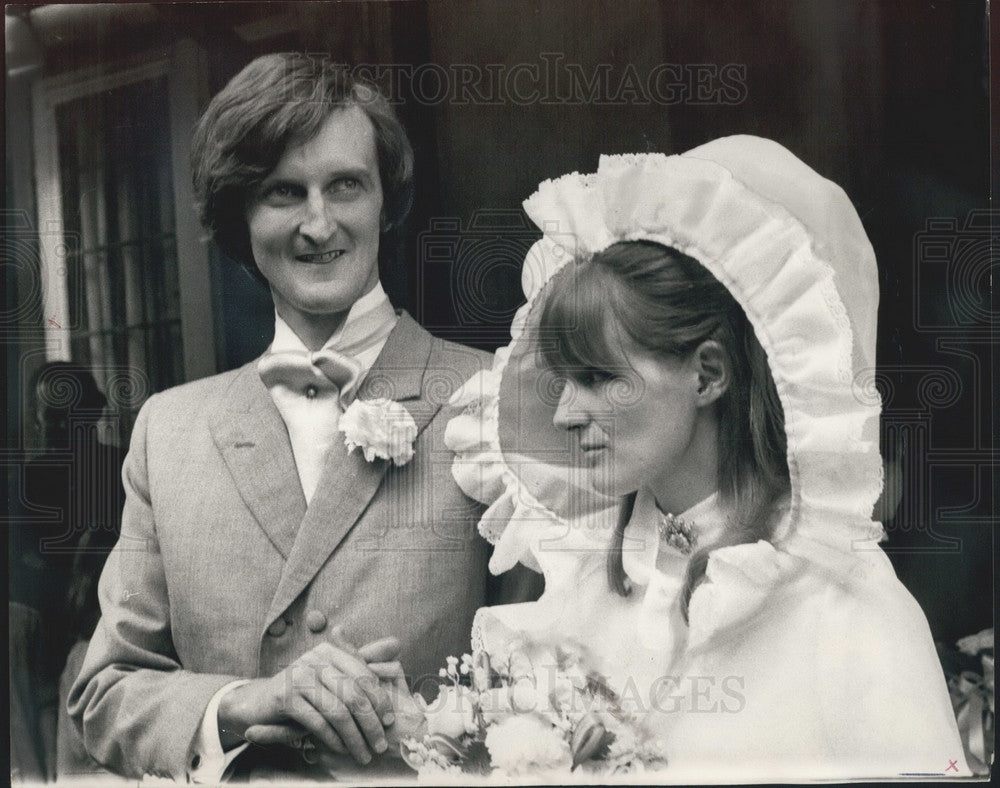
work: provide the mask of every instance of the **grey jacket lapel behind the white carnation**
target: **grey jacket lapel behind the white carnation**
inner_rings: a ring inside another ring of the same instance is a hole
[[[418,439],[441,407],[424,394],[432,343],[431,335],[403,312],[358,392],[359,399],[388,397],[403,405],[417,424]],[[366,462],[359,449],[348,453],[343,440],[334,441],[265,626],[295,601],[343,542],[374,497],[388,467],[387,460]]]

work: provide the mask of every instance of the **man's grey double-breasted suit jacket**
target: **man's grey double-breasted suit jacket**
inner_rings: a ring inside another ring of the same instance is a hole
[[[404,313],[359,396],[407,408],[415,456],[368,463],[337,440],[308,509],[255,363],[150,398],[102,619],[70,694],[98,761],[183,780],[212,695],[275,674],[336,624],[357,643],[399,637],[417,689],[468,649],[487,545],[480,507],[451,478],[442,406],[488,358]]]

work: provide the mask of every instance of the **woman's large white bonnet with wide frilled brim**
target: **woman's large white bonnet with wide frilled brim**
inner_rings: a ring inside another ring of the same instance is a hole
[[[791,473],[777,550],[848,571],[866,552],[880,553],[872,548],[882,528],[871,520],[882,489],[877,270],[840,187],[775,142],[734,136],[677,156],[602,156],[596,173],[545,181],[524,208],[543,232],[522,274],[528,302],[493,369],[456,394],[466,410],[446,437],[459,485],[490,504],[480,532],[496,545],[492,571],[518,560],[544,564],[540,525],[565,530],[565,498],[574,494],[553,481],[558,474],[539,475],[537,464],[515,459],[517,447],[501,445],[507,364],[553,275],[627,240],[672,246],[702,263],[743,307],[767,353]],[[611,506],[595,498],[583,517]]]

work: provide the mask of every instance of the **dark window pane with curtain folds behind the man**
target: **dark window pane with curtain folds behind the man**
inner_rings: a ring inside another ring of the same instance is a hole
[[[126,372],[140,390],[182,380],[167,98],[161,77],[56,111],[63,220],[77,240],[71,352],[105,390]]]

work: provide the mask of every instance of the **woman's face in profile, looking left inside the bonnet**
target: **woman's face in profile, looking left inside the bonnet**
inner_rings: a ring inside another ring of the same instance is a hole
[[[622,364],[566,381],[553,424],[569,430],[578,464],[600,492],[622,496],[683,477],[697,453],[698,372],[692,359],[652,356],[628,343]]]

